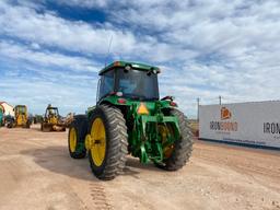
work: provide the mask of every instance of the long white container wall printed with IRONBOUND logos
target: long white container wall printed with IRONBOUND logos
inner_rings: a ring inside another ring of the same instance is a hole
[[[199,139],[280,149],[280,101],[200,105]]]

